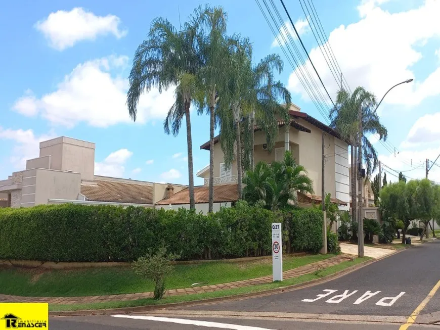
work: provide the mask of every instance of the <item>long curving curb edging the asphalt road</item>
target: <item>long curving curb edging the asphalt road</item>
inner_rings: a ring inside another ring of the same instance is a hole
[[[395,254],[400,253],[405,250],[408,250],[408,249],[401,249],[401,250],[396,251],[395,253],[391,253],[391,254],[385,255],[383,257],[377,258],[377,259],[366,260],[366,261],[361,262],[357,265],[347,267],[343,270],[340,270],[336,273],[327,275],[322,278],[316,278],[316,279],[312,279],[310,281],[302,282],[299,284],[294,284],[291,286],[280,287],[280,288],[275,288],[275,289],[269,289],[266,291],[251,292],[251,293],[231,295],[231,296],[218,297],[218,298],[207,298],[207,299],[200,299],[200,300],[187,301],[187,302],[181,302],[181,303],[172,303],[172,304],[122,307],[122,308],[110,308],[110,309],[95,309],[95,310],[91,309],[91,310],[77,310],[77,311],[54,311],[54,312],[49,312],[49,316],[85,316],[85,315],[129,314],[129,313],[136,313],[136,312],[148,312],[148,311],[158,310],[158,309],[163,310],[163,309],[168,309],[168,308],[187,307],[187,306],[194,306],[194,305],[201,305],[201,304],[212,304],[212,303],[218,303],[218,302],[224,302],[224,301],[241,300],[241,299],[253,298],[253,297],[263,297],[263,296],[272,295],[272,294],[276,294],[276,293],[282,293],[282,292],[286,292],[286,291],[295,291],[295,290],[315,286],[318,284],[322,284],[322,283],[325,283],[325,282],[330,281],[332,279],[336,279],[338,277],[342,277],[344,275],[347,275],[347,274],[354,272],[360,268],[363,268],[369,264],[372,264],[376,261],[385,259],[389,256],[395,255]]]

